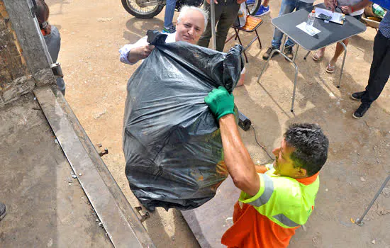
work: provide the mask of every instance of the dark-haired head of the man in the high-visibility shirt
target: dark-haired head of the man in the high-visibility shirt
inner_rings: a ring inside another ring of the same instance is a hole
[[[292,178],[313,176],[328,159],[329,140],[317,124],[292,124],[281,147],[272,153],[277,174]]]

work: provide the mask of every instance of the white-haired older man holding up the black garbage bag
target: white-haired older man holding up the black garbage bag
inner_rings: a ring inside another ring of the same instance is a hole
[[[177,18],[176,32],[168,34],[166,43],[186,41],[196,45],[207,25],[208,13],[194,6],[183,6]],[[155,48],[147,43],[147,36],[134,44],[124,45],[120,50],[121,62],[135,64],[150,55]]]

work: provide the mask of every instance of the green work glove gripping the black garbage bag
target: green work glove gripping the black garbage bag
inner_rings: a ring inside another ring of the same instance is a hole
[[[234,96],[229,94],[223,86],[219,86],[218,89],[213,89],[213,91],[208,93],[208,96],[204,98],[204,102],[216,116],[217,120],[223,115],[234,114]]]

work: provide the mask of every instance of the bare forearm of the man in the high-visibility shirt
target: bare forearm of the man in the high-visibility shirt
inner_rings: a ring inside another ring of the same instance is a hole
[[[235,186],[250,196],[255,196],[260,188],[260,177],[255,164],[238,133],[235,117],[228,114],[219,119],[225,164]]]

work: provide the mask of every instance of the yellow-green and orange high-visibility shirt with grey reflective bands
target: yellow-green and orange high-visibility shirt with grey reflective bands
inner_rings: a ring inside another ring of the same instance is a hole
[[[287,247],[295,230],[314,208],[320,185],[318,173],[305,179],[274,174],[267,164],[255,196],[242,192],[235,204],[233,226],[222,237],[228,247]]]

